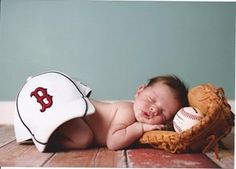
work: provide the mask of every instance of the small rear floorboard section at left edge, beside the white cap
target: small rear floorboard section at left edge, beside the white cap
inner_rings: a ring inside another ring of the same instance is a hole
[[[0,147],[15,140],[13,126],[0,125]]]

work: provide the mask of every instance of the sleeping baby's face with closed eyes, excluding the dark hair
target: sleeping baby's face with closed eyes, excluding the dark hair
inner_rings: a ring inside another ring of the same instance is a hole
[[[162,82],[140,86],[135,95],[134,113],[139,122],[165,124],[180,108],[173,91]]]

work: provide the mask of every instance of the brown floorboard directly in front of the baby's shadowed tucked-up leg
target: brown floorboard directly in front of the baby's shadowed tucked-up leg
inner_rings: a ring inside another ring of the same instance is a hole
[[[45,167],[93,167],[98,148],[56,153]]]

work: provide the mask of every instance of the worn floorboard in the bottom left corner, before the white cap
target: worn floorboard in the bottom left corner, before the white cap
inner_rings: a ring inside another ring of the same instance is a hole
[[[19,145],[14,141],[1,147],[0,166],[39,167],[52,155],[53,153],[40,153],[33,144]]]

